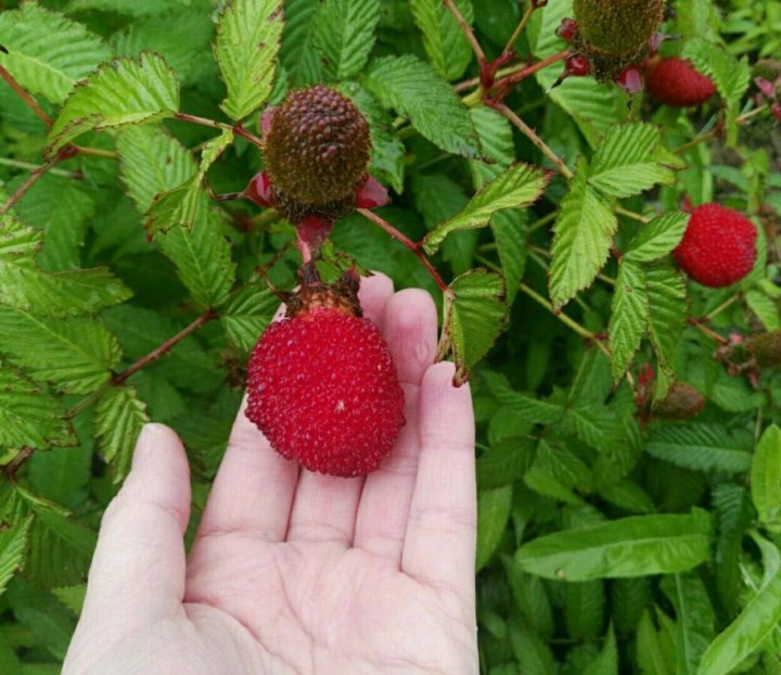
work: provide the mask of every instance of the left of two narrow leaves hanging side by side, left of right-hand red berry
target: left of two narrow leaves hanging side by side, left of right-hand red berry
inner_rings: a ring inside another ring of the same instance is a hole
[[[626,257],[622,259],[611,306],[611,370],[616,382],[624,377],[640,347],[648,327],[649,304],[643,270]]]

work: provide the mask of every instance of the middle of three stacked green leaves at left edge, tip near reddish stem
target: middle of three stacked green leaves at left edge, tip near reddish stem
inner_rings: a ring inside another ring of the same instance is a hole
[[[64,392],[93,392],[119,360],[116,340],[97,319],[48,319],[0,306],[0,352]]]

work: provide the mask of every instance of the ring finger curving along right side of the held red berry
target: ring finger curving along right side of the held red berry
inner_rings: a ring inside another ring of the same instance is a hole
[[[384,334],[405,392],[406,424],[393,451],[367,476],[355,546],[400,564],[418,473],[420,383],[436,354],[437,316],[431,295],[418,289],[396,293],[385,306]]]

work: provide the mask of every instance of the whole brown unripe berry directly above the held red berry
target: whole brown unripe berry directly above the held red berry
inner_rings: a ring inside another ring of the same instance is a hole
[[[317,207],[355,202],[370,151],[360,111],[338,91],[316,86],[293,91],[274,112],[264,154],[279,199]]]

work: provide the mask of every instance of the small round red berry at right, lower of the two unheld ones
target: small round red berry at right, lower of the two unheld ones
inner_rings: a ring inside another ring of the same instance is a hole
[[[754,267],[756,237],[756,228],[743,214],[720,204],[703,204],[692,211],[683,240],[673,255],[697,283],[726,286]]]

